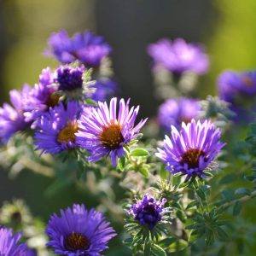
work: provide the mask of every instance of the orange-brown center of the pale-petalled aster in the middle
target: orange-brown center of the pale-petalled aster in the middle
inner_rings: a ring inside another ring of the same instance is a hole
[[[119,124],[104,127],[100,135],[102,144],[110,149],[118,148],[120,143],[125,142],[121,130],[122,127]]]

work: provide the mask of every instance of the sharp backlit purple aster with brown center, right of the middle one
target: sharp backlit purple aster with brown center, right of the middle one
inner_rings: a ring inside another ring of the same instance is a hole
[[[221,131],[211,121],[182,124],[180,132],[172,125],[172,137],[166,136],[164,149],[158,148],[156,155],[166,163],[173,174],[180,172],[190,177],[204,177],[204,170],[212,163],[224,147],[219,141]]]

